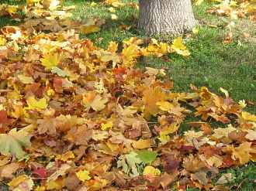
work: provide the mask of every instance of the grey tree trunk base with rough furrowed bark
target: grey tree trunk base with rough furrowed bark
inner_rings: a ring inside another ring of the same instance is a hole
[[[140,0],[139,29],[147,34],[179,34],[194,26],[191,0]]]

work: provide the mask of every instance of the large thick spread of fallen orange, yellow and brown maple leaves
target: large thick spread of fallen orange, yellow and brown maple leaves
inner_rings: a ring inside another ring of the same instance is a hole
[[[189,56],[181,37],[101,49],[79,39],[100,25],[78,28],[66,9],[33,2],[21,26],[1,29],[1,189],[229,190],[230,174],[212,181],[219,170],[256,160],[245,101],[206,87],[175,93],[163,69],[134,67],[143,56]],[[191,115],[200,121],[180,135]]]

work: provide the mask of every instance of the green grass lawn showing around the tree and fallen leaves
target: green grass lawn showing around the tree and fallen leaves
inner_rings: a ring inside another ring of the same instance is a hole
[[[15,0],[1,1],[15,4]],[[24,2],[24,1],[23,1]],[[23,3],[19,2],[19,3]],[[116,9],[119,19],[111,20],[109,7],[101,1],[98,5],[92,6],[92,1],[66,0],[65,5],[76,5],[74,19],[86,19],[98,17],[106,19],[106,25],[102,26],[100,32],[88,36],[81,36],[92,39],[97,46],[106,48],[110,41],[121,43],[123,39],[132,36],[144,38],[144,35],[137,32],[137,9],[129,6]],[[124,2],[137,2],[126,0]],[[138,67],[164,67],[168,75],[175,81],[176,91],[188,91],[189,84],[195,86],[209,87],[213,92],[219,93],[219,88],[229,90],[234,100],[256,101],[256,23],[247,19],[238,19],[232,30],[234,41],[223,44],[223,39],[229,32],[226,27],[230,19],[210,15],[206,13],[211,4],[202,3],[194,7],[195,17],[199,21],[199,34],[192,35],[186,42],[191,51],[191,56],[184,58],[174,54],[169,55],[170,61],[148,57],[138,63]],[[0,27],[18,24],[9,18],[0,18]],[[213,27],[216,26],[216,27]],[[131,26],[130,29],[119,29],[119,26]],[[169,39],[168,39],[169,40]],[[256,105],[247,107],[248,111],[256,114]],[[187,121],[192,121],[188,118]],[[188,129],[187,125],[182,126],[182,131]],[[232,190],[255,190],[256,165],[249,163],[240,168],[227,169],[220,173],[232,173],[234,181],[230,182]],[[195,190],[195,189],[188,189]]]

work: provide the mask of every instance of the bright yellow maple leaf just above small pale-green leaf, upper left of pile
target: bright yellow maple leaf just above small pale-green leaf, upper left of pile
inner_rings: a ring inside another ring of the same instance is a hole
[[[57,67],[58,63],[61,62],[61,55],[59,53],[47,53],[43,55],[40,61],[43,67],[46,67],[47,70],[51,70]]]

